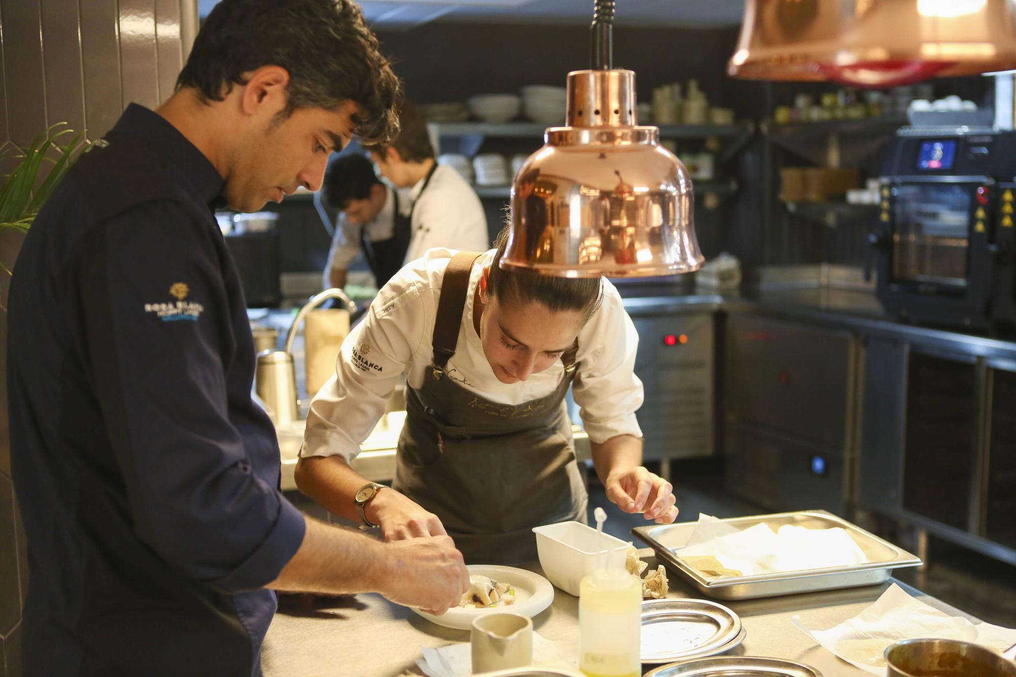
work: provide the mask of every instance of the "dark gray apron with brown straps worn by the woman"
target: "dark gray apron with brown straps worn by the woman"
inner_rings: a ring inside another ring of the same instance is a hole
[[[578,344],[561,356],[557,389],[521,405],[491,402],[448,378],[478,256],[456,254],[445,271],[434,364],[420,388],[406,388],[392,486],[438,515],[467,564],[515,564],[536,559],[533,527],[586,522],[588,497],[564,403]]]

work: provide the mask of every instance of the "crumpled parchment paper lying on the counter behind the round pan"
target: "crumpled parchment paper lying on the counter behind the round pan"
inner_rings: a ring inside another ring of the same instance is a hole
[[[830,652],[873,675],[886,674],[883,653],[900,639],[933,637],[960,639],[1005,651],[1016,642],[1016,630],[971,623],[966,618],[950,616],[907,595],[893,583],[875,604],[853,618],[828,630],[809,628],[793,617],[793,624]]]

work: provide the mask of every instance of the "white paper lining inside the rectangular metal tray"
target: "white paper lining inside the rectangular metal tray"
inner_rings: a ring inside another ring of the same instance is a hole
[[[725,577],[864,564],[868,557],[839,527],[806,529],[766,524],[745,531],[700,514],[688,545],[675,550],[689,566],[706,575]]]

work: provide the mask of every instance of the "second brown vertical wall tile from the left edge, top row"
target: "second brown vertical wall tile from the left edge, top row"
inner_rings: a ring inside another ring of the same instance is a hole
[[[84,82],[77,0],[42,0],[46,119],[84,128]]]

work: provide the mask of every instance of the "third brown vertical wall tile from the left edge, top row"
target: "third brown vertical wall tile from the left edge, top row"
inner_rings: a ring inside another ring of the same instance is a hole
[[[8,0],[9,1],[9,0]],[[117,0],[87,0],[81,12],[84,124],[99,138],[123,112]]]

